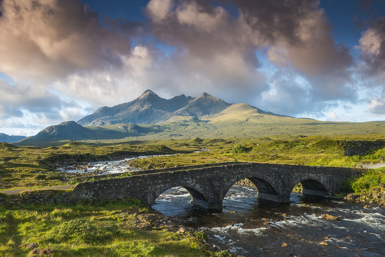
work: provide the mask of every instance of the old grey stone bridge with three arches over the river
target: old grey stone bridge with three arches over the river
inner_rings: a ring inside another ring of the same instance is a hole
[[[363,169],[269,163],[214,163],[139,171],[133,176],[77,184],[72,195],[78,199],[137,198],[146,206],[164,191],[182,186],[191,201],[205,208],[221,209],[223,198],[239,180],[255,186],[256,197],[289,202],[293,188],[301,183],[304,194],[328,196],[341,189],[342,181],[363,173]]]

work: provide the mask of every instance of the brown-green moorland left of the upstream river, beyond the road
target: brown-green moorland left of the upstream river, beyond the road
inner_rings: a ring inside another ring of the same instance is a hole
[[[65,185],[60,178],[74,175],[55,170],[57,162],[105,161],[137,155],[184,153],[164,145],[114,144],[92,146],[71,142],[39,148],[0,143],[0,189]]]

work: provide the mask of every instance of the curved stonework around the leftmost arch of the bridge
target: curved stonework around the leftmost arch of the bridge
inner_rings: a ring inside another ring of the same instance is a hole
[[[187,192],[191,196],[191,202],[192,203],[199,205],[199,206],[202,206],[202,207],[205,207],[205,208],[208,208],[208,200],[207,200],[206,196],[202,193],[202,192],[204,192],[204,190],[202,190],[202,188],[200,188],[199,185],[191,184],[191,183],[186,184],[183,182],[182,183],[181,182],[174,182],[174,183],[170,183],[170,184],[157,185],[156,189],[149,191],[148,204],[150,206],[154,205],[154,202],[159,197],[159,195],[161,195],[165,191],[167,191],[171,188],[177,187],[177,186],[182,186],[184,189],[187,190]]]

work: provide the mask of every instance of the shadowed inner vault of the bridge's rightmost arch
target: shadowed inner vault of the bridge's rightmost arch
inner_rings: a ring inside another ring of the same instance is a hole
[[[329,195],[330,186],[328,186],[327,181],[324,181],[318,176],[305,176],[303,178],[297,179],[293,184],[291,184],[290,192],[296,185],[298,185],[298,183],[301,184],[302,193],[304,195]]]

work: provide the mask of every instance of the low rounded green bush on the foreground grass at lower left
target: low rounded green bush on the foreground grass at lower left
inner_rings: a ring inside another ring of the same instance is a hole
[[[46,239],[50,242],[77,244],[104,242],[112,237],[111,231],[101,230],[87,220],[70,220],[52,228],[47,233]]]

